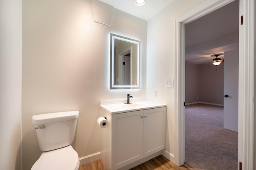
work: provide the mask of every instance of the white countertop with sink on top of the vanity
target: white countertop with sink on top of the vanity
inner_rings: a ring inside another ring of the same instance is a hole
[[[111,114],[116,113],[123,113],[128,111],[137,111],[137,110],[144,110],[144,109],[152,109],[157,107],[165,107],[166,104],[160,104],[156,102],[140,101],[140,102],[132,102],[132,104],[101,104],[100,107]]]

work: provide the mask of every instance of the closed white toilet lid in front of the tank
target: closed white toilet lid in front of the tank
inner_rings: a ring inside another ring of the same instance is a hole
[[[64,148],[43,152],[31,170],[77,170],[78,168],[78,154],[71,145],[68,145]]]

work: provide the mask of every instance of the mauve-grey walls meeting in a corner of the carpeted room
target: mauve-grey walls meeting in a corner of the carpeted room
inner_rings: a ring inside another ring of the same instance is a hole
[[[186,103],[205,102],[223,105],[224,64],[186,63]],[[198,99],[197,99],[198,96]]]

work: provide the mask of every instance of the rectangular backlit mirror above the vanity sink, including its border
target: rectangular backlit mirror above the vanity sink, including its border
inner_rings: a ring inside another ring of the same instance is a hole
[[[140,88],[140,41],[110,33],[110,89]]]

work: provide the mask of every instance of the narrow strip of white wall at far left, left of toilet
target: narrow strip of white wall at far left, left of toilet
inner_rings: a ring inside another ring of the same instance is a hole
[[[22,1],[0,1],[0,169],[20,170]]]

